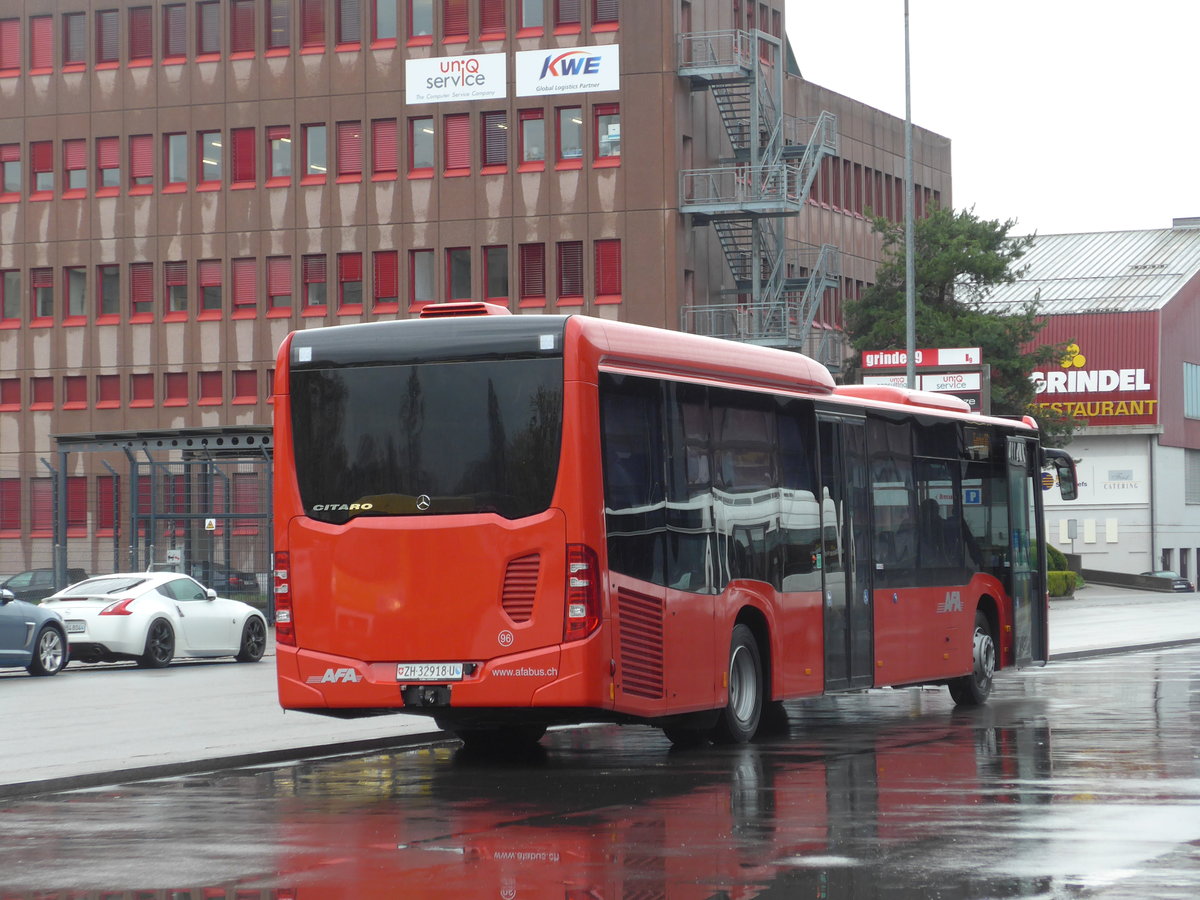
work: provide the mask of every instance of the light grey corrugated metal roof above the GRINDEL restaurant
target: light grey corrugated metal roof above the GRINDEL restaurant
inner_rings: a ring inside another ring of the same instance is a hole
[[[1200,228],[1037,235],[983,308],[1037,299],[1043,316],[1159,310],[1200,271]]]

